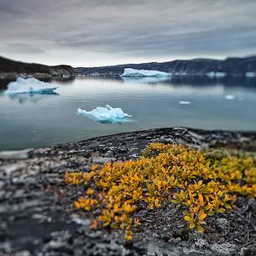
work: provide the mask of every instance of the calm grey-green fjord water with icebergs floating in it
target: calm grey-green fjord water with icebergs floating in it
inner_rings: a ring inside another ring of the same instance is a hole
[[[191,127],[256,130],[256,81],[118,81],[76,79],[57,82],[55,95],[3,94],[0,81],[0,150],[78,141],[139,129]],[[232,95],[234,99],[225,97]],[[190,105],[180,105],[189,101]],[[103,124],[76,114],[110,104],[133,122]]]

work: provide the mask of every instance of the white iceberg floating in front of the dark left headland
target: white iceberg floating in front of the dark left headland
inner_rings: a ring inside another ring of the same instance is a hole
[[[48,82],[39,81],[34,77],[29,77],[24,79],[18,77],[16,81],[12,81],[8,84],[8,89],[5,91],[8,94],[13,93],[41,93],[41,94],[51,94],[58,87],[52,86]]]

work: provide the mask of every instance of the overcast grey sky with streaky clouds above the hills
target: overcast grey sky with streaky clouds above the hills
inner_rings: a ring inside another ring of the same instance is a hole
[[[255,0],[0,0],[0,55],[73,66],[256,54]]]

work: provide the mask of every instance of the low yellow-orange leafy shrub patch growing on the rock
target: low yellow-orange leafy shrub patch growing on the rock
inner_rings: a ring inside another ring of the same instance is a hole
[[[74,202],[91,212],[91,227],[121,228],[133,238],[140,225],[133,212],[169,201],[183,212],[189,228],[204,232],[207,217],[235,209],[237,196],[256,197],[255,154],[225,149],[200,151],[183,145],[149,144],[139,159],[67,172],[65,183],[85,190]]]

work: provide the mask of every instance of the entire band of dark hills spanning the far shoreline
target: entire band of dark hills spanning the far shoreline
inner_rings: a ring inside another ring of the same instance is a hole
[[[37,78],[52,76],[114,76],[119,77],[125,68],[154,70],[174,76],[229,76],[256,77],[256,56],[227,58],[226,60],[192,59],[141,64],[108,65],[99,67],[76,67],[71,65],[41,65],[9,60],[0,56],[0,78],[15,78],[20,75]]]

